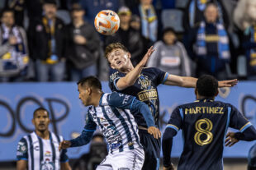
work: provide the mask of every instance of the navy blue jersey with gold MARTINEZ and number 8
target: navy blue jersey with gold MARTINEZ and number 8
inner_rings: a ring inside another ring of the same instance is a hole
[[[176,108],[167,128],[183,130],[183,154],[178,169],[222,169],[222,154],[228,127],[241,132],[252,126],[230,103],[197,100]]]

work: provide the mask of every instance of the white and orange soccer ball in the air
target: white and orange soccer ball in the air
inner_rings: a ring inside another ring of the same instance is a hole
[[[120,19],[115,11],[102,10],[97,13],[94,25],[97,32],[105,35],[116,33],[119,29]]]

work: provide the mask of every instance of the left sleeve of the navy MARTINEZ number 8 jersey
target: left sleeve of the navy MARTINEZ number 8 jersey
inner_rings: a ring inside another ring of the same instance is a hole
[[[183,128],[183,110],[182,108],[175,108],[168,121],[166,128],[172,128],[175,131],[179,131]]]

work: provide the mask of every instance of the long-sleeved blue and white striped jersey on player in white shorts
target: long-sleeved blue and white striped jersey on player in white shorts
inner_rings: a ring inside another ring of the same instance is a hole
[[[149,107],[134,96],[116,92],[102,94],[99,105],[88,108],[82,135],[70,140],[71,147],[88,144],[97,126],[106,137],[111,153],[139,147],[138,126],[131,114],[135,110],[139,110],[145,116],[148,126],[154,126]]]

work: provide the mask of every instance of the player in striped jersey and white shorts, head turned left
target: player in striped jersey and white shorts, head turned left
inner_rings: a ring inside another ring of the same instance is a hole
[[[149,134],[159,139],[161,133],[154,126],[149,107],[135,97],[111,93],[104,94],[102,85],[96,77],[88,76],[78,81],[79,99],[88,108],[86,125],[81,136],[73,140],[64,140],[59,149],[87,145],[93,131],[99,126],[109,145],[107,158],[97,166],[97,170],[142,168],[145,153],[140,145],[138,126],[130,112],[140,110],[145,117]]]

